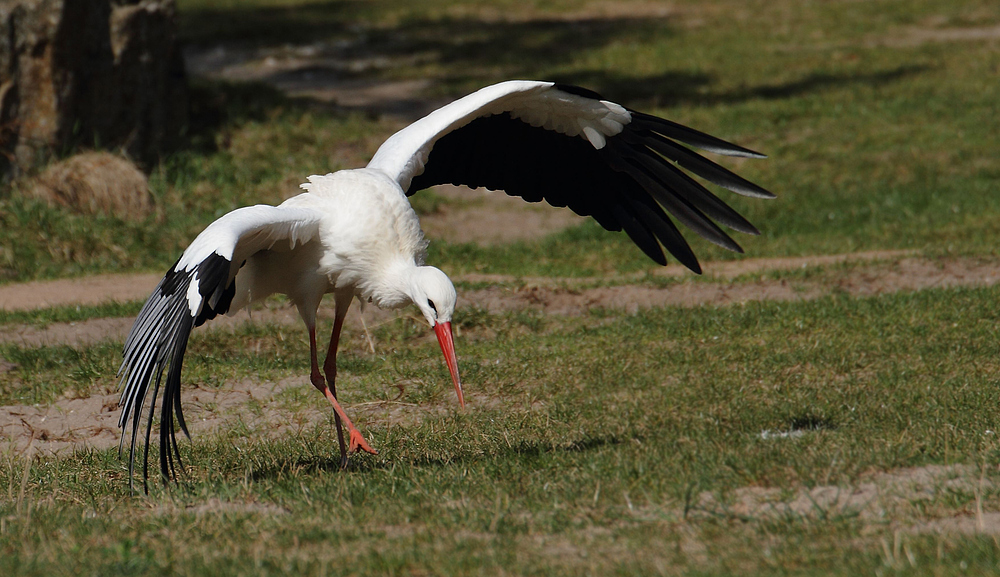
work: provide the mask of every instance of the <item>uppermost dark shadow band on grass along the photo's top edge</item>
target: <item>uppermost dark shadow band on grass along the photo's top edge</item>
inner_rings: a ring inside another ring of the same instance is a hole
[[[345,58],[430,54],[442,65],[468,68],[498,62],[530,67],[576,58],[581,51],[670,34],[668,16],[538,17],[507,21],[435,14],[433,7],[380,21],[378,1],[327,1],[298,6],[233,6],[179,10],[179,38],[195,47],[242,50],[312,45],[312,54]],[[398,6],[398,4],[397,4]]]

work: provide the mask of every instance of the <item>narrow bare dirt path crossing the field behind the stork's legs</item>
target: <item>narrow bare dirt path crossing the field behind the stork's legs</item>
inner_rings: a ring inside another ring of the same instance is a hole
[[[837,265],[849,265],[838,268]],[[733,279],[764,275],[773,271],[793,271],[803,267],[827,267],[802,279],[769,279],[734,282]],[[806,300],[831,294],[834,291],[854,296],[869,296],[901,290],[920,290],[934,287],[989,286],[1000,282],[1000,261],[980,259],[928,259],[908,256],[900,252],[874,252],[853,255],[829,255],[810,258],[748,259],[738,262],[710,263],[706,266],[712,282],[695,281],[657,287],[644,284],[586,287],[598,279],[513,279],[511,277],[473,275],[463,280],[507,282],[473,291],[460,291],[459,307],[479,307],[499,313],[513,310],[535,309],[545,314],[579,315],[595,308],[611,308],[635,312],[639,309],[662,306],[693,307],[699,305],[727,305],[762,300]],[[658,271],[661,276],[686,274],[679,267]],[[514,288],[511,281],[520,280]],[[627,281],[628,279],[619,279]],[[92,277],[69,281],[50,281],[0,287],[0,303],[14,310],[38,308],[62,299],[59,304],[75,302],[100,302],[98,295],[109,290],[121,298],[143,298],[155,277],[122,275]],[[70,292],[68,287],[77,285],[79,290]],[[134,293],[129,295],[128,290]],[[321,310],[322,315],[329,311]],[[369,325],[385,322],[401,312],[380,311],[373,307],[365,310]],[[11,343],[34,347],[42,345],[86,345],[105,339],[123,340],[132,326],[132,318],[100,318],[72,323],[52,323],[45,327],[34,325],[7,325],[0,329],[0,344]],[[251,315],[237,313],[233,317],[216,319],[206,325],[206,330],[232,330],[248,320],[283,324],[301,322],[291,307],[276,310],[254,311]],[[361,331],[361,313],[352,309],[347,322],[348,330]]]

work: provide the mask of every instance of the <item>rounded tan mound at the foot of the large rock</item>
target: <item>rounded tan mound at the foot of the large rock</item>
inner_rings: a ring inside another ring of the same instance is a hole
[[[26,194],[84,214],[140,221],[153,211],[146,175],[107,152],[85,152],[49,165]]]

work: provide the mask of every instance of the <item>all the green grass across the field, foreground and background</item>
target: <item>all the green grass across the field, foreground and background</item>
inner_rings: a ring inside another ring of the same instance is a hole
[[[178,4],[192,45],[320,43],[379,63],[346,77],[432,80],[428,99],[510,77],[573,82],[766,152],[726,162],[779,195],[732,200],[764,232],[739,239],[755,257],[996,258],[1000,51],[934,36],[995,27],[995,2]],[[33,203],[24,183],[0,190],[0,282],[163,270],[213,218],[363,165],[405,123],[263,85],[201,81],[192,106],[188,142],[150,177],[159,211],[147,222]],[[455,202],[418,198],[424,214]],[[694,245],[703,260],[738,258]],[[430,260],[452,274],[674,282],[642,275],[652,267],[639,251],[592,223],[509,245],[433,242]],[[862,266],[767,278],[822,284]],[[934,523],[1000,508],[998,297],[934,289],[567,317],[463,308],[467,411],[426,327],[400,318],[374,329],[375,355],[345,335],[340,392],[380,451],[347,471],[329,421],[276,432],[259,402],[182,442],[187,477],[148,497],[129,494],[113,449],[0,448],[0,573],[994,573],[994,528]],[[137,306],[0,313],[0,331]],[[0,401],[109,393],[120,345],[0,345],[15,365],[0,369]],[[196,331],[184,378],[210,389],[301,379],[279,403],[325,412],[307,365],[301,327],[260,323]],[[413,406],[361,404],[393,399],[397,384]],[[904,491],[880,501],[881,516],[788,505],[926,466],[955,466],[963,482]],[[739,508],[747,491],[771,490],[784,513]]]

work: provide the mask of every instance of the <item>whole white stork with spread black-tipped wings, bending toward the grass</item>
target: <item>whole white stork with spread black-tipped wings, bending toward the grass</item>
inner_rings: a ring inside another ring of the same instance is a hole
[[[366,168],[310,176],[302,185],[305,192],[278,206],[250,206],[222,216],[170,267],[125,342],[118,371],[123,384],[119,451],[131,424],[130,483],[147,397],[144,483],[148,478],[150,429],[161,385],[164,482],[175,475],[175,458],[181,467],[175,427],[188,434],[180,390],[191,329],[274,293],[288,296],[309,330],[310,380],[335,410],[342,464],[348,454],[342,423],[351,451],[374,453],[337,402],[334,388],[337,343],[354,298],[383,308],[416,305],[437,334],[464,406],[451,330],[455,287],[443,272],[424,265],[426,241],[407,202],[424,188],[443,183],[486,187],[528,202],[568,206],[608,230],[624,230],[657,263],[666,264],[662,245],[696,273],[701,272],[698,260],[666,213],[709,241],[742,252],[716,222],[749,234],[759,234],[757,229],[677,166],[738,194],[774,195],[677,141],[717,154],[764,158],[589,90],[510,81],[400,130]],[[321,372],[316,311],[327,293],[334,295],[335,320]]]

